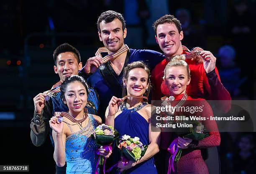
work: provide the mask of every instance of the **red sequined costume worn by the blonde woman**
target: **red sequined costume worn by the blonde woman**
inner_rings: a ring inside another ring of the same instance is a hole
[[[175,97],[175,101],[181,100],[184,94],[179,94]],[[188,96],[186,103],[184,103],[182,106],[189,106],[190,104],[195,104],[197,106],[202,106],[203,111],[201,113],[198,113],[198,115],[202,117],[210,117],[213,115],[212,108],[210,105],[201,98],[193,99]],[[176,103],[175,103],[176,105]],[[174,106],[175,106],[174,105]],[[180,115],[180,113],[176,113],[176,115]],[[197,115],[197,113],[189,114],[189,113],[182,113],[182,115]],[[208,148],[213,146],[219,146],[220,145],[220,134],[218,132],[218,127],[215,121],[210,121],[210,119],[206,119],[205,121],[201,121],[201,123],[206,127],[207,130],[209,130],[209,136],[205,137],[205,139],[202,139],[200,141],[192,141],[188,145],[188,149],[182,149],[182,156],[179,159],[179,161],[176,163],[174,162],[174,174],[209,174],[209,171],[207,169],[207,166],[205,164],[205,161],[202,159],[201,155],[201,148]],[[167,149],[169,144],[177,138],[177,134],[174,132],[162,132],[161,133],[161,148]],[[170,154],[168,153],[165,159],[165,162],[169,161]],[[166,163],[166,170],[168,166],[168,163]],[[172,172],[173,174],[173,172]]]

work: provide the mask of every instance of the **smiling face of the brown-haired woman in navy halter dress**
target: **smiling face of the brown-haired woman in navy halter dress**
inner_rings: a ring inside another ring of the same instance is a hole
[[[149,86],[148,73],[143,68],[133,68],[128,73],[128,78],[124,80],[128,96],[143,96]]]

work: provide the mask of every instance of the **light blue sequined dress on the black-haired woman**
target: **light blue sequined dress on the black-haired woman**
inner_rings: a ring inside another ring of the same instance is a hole
[[[89,122],[82,130],[73,132],[66,138],[66,174],[95,174],[97,145],[90,137],[97,127],[97,122],[88,114]]]

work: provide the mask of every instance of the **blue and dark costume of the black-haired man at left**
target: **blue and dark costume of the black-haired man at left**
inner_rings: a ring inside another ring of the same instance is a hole
[[[61,82],[56,83],[51,90],[46,91],[45,93],[50,96],[50,100],[46,101],[46,106],[44,107],[42,114],[38,114],[34,112],[34,117],[31,121],[30,128],[31,133],[30,137],[35,146],[41,146],[46,141],[47,135],[50,132],[50,139],[52,145],[54,146],[54,141],[52,138],[52,130],[49,126],[49,120],[52,116],[54,116],[55,112],[68,111],[69,108],[67,105],[63,103],[60,98],[61,92],[59,92],[58,88],[60,88]],[[96,91],[89,87],[87,95],[87,105],[85,106],[88,109],[88,113],[97,115],[99,109],[99,97]],[[37,123],[38,122],[38,123]],[[59,167],[56,165],[56,173],[64,174],[66,171],[66,167]]]

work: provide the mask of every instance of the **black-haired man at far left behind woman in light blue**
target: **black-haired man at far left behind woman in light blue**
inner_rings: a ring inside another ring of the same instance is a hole
[[[35,111],[30,124],[30,136],[35,146],[44,144],[49,132],[54,146],[51,135],[52,130],[49,129],[49,120],[52,116],[62,111],[68,111],[67,105],[65,105],[60,98],[61,83],[65,81],[67,77],[78,75],[78,71],[82,68],[79,51],[68,43],[61,44],[54,50],[54,62],[54,71],[59,75],[60,81],[54,84],[49,91],[39,93],[33,98]],[[98,95],[91,87],[88,88],[88,91],[86,108],[89,113],[97,114],[99,107]],[[56,174],[65,173],[66,165],[64,167],[58,167],[56,165]]]

